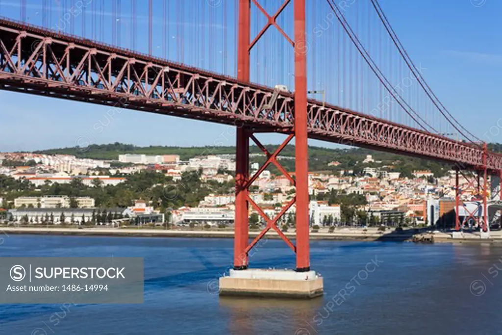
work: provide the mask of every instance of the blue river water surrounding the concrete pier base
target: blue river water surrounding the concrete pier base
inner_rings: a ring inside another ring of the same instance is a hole
[[[220,298],[232,248],[230,239],[10,236],[0,257],[144,257],[145,299],[3,304],[0,334],[502,334],[500,247],[312,241],[325,290],[314,300]],[[294,262],[276,240],[250,258],[256,268]]]

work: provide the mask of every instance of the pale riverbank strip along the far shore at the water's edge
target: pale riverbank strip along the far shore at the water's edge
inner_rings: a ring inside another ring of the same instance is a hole
[[[498,233],[498,232],[497,232]],[[255,238],[259,231],[249,232],[249,238]],[[49,236],[101,236],[101,237],[157,237],[157,238],[233,238],[233,231],[194,231],[194,230],[162,230],[136,228],[75,228],[75,227],[0,227],[0,238],[10,235],[49,235]],[[295,239],[294,232],[287,232],[289,239]],[[265,235],[267,239],[281,239],[275,232]],[[414,230],[403,232],[378,232],[376,229],[339,229],[333,233],[310,233],[311,240],[333,241],[381,241],[381,242],[429,242],[429,243],[502,243],[502,234],[490,239],[480,239],[474,233],[466,234],[463,239],[453,239],[449,233],[419,233]]]

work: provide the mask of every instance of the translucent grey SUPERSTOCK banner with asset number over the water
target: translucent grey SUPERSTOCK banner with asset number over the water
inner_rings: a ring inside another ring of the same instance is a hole
[[[143,303],[143,258],[1,257],[0,303]]]

